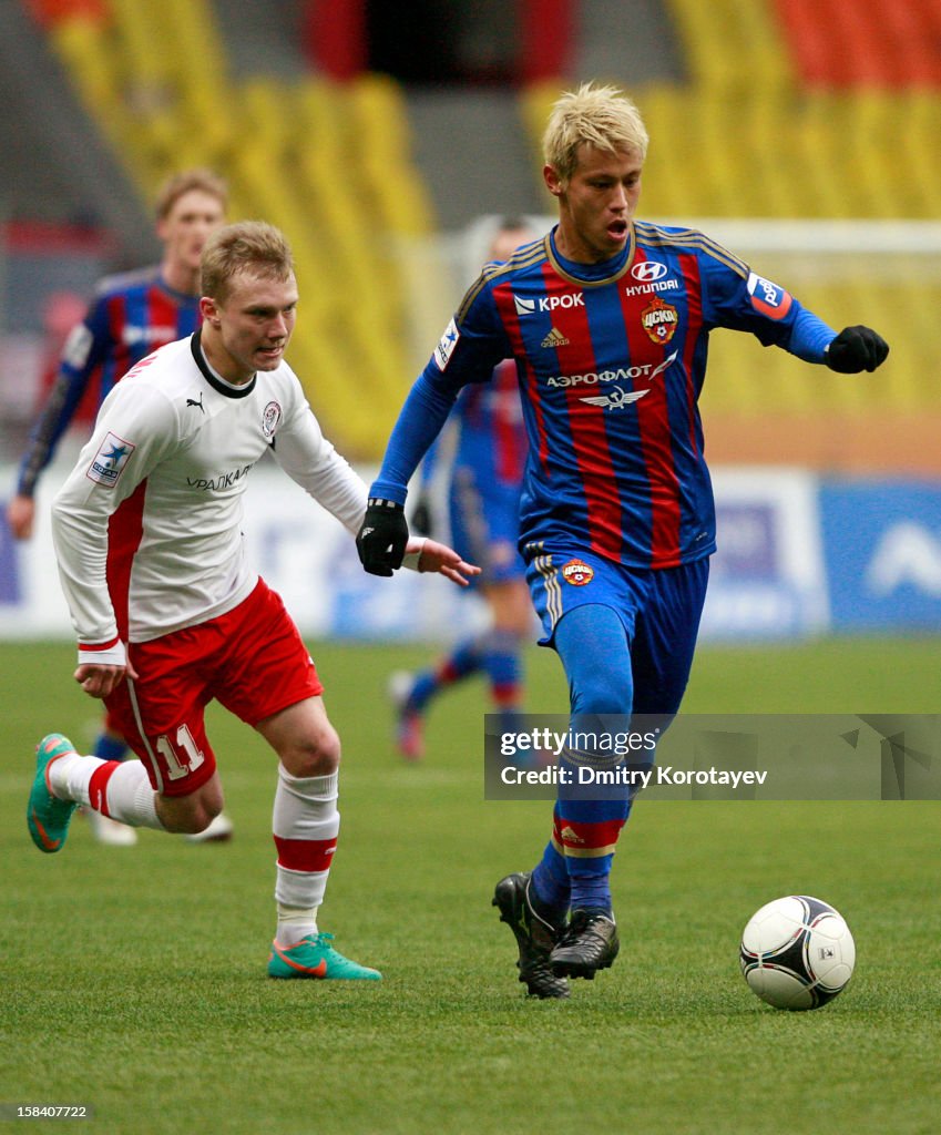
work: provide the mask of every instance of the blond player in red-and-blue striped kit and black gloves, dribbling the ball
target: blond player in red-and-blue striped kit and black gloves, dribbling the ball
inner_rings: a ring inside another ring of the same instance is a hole
[[[520,544],[572,720],[665,724],[686,689],[715,548],[698,410],[709,334],[750,331],[841,373],[874,370],[889,347],[866,327],[838,335],[704,234],[636,220],[647,132],[614,89],[563,95],[544,149],[558,224],[468,292],[395,426],[360,556],[376,574],[398,565],[422,453],[460,388],[513,358],[530,443]],[[608,876],[630,798],[562,797],[535,869],[501,880],[494,897],[520,980],[544,998],[566,997],[568,977],[594,977],[619,949]]]

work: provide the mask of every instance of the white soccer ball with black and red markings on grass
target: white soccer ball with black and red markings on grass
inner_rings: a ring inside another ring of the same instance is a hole
[[[807,894],[757,910],[741,935],[741,972],[775,1009],[818,1009],[846,986],[856,945],[842,915]]]

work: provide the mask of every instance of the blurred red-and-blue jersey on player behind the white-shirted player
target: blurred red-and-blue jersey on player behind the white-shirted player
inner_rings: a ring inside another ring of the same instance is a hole
[[[33,496],[85,392],[98,384],[98,405],[111,388],[158,347],[192,335],[200,297],[175,292],[159,267],[106,277],[84,318],[69,333],[56,381],[30,435],[17,493]]]

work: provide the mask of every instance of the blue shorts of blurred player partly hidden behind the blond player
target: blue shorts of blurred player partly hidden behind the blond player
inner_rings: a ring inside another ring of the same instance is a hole
[[[481,485],[471,466],[457,465],[451,481],[451,543],[482,570],[471,585],[522,579],[526,564],[516,550],[520,489]]]

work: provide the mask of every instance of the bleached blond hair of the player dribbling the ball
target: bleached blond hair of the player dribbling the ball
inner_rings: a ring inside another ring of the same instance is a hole
[[[632,151],[647,157],[649,137],[640,111],[615,86],[582,83],[555,101],[543,135],[547,166],[565,183],[578,166],[580,145],[608,153]]]

